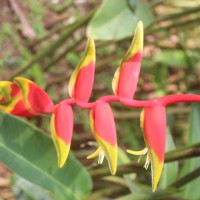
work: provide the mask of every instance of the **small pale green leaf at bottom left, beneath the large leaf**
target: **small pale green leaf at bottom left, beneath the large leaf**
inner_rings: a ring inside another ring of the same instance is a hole
[[[12,177],[11,184],[17,200],[54,200],[47,191],[17,175]]]

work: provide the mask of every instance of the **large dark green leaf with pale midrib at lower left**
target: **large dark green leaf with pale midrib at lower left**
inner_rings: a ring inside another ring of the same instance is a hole
[[[51,139],[4,113],[0,113],[0,161],[59,200],[82,200],[92,188],[89,174],[72,154],[67,165],[59,169]]]

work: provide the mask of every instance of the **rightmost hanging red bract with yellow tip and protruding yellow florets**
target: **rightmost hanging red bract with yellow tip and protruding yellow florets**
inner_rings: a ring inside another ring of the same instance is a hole
[[[163,169],[165,143],[166,143],[166,110],[163,106],[145,107],[141,113],[140,125],[143,130],[146,148],[141,151],[131,151],[133,155],[144,155],[147,153],[145,168],[151,162],[152,190],[157,188]]]

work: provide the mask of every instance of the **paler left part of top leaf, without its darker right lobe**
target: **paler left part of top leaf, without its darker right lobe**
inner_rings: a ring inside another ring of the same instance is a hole
[[[96,40],[119,40],[133,35],[136,23],[126,1],[104,0],[87,32]]]

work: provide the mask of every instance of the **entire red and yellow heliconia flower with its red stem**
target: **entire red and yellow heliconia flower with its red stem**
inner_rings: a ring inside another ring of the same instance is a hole
[[[140,73],[143,52],[143,24],[139,22],[133,41],[121,65],[115,72],[112,88],[114,95],[103,96],[88,102],[95,73],[95,44],[89,38],[85,53],[69,81],[70,99],[55,105],[48,94],[34,82],[16,77],[13,82],[0,81],[0,110],[17,116],[33,117],[52,114],[51,135],[58,155],[58,166],[62,167],[68,157],[73,133],[73,109],[77,105],[90,109],[90,123],[97,141],[97,150],[87,158],[98,157],[102,163],[108,161],[111,174],[117,171],[117,137],[112,109],[109,102],[120,102],[132,108],[143,108],[140,125],[146,147],[141,151],[127,150],[133,155],[146,154],[145,168],[151,164],[152,191],[159,182],[165,155],[166,109],[178,102],[200,102],[200,95],[168,95],[154,100],[133,99]]]

